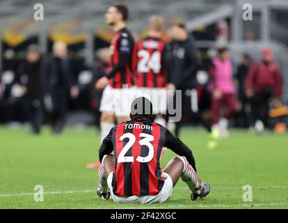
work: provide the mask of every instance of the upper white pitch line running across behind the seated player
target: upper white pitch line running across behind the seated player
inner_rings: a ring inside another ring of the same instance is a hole
[[[231,186],[231,187],[221,187],[221,186],[211,186],[211,190],[238,190],[241,189],[241,186]],[[255,186],[256,189],[286,189],[287,187],[284,185],[259,185]],[[176,187],[174,190],[185,190],[188,187]],[[52,192],[44,192],[46,195],[56,195],[56,194],[77,194],[77,193],[90,193],[95,192],[95,190],[65,190],[65,191],[52,191]],[[20,196],[33,196],[35,193],[33,192],[20,192],[15,194],[0,194],[0,197],[20,197]]]

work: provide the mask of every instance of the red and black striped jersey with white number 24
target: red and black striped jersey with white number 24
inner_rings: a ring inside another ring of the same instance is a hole
[[[137,44],[137,86],[164,88],[167,84],[167,73],[164,63],[166,44],[163,40],[146,37]]]

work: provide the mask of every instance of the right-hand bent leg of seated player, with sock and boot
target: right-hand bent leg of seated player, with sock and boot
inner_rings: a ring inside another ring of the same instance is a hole
[[[210,192],[209,185],[207,183],[201,184],[200,177],[184,156],[174,157],[163,171],[172,179],[173,187],[175,187],[177,181],[181,177],[191,190],[191,199],[193,201],[206,197]]]

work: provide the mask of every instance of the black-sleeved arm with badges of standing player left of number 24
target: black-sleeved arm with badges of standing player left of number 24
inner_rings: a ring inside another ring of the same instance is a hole
[[[117,72],[124,69],[125,64],[129,62],[129,59],[131,58],[134,47],[134,40],[128,34],[127,37],[123,36],[123,34],[127,33],[122,33],[118,40],[119,61],[113,66],[111,72],[106,74],[106,77],[108,78],[113,77]]]

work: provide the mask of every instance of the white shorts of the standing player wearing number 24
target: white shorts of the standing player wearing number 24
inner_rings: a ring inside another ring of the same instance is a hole
[[[138,88],[137,97],[145,97],[152,102],[153,114],[166,114],[167,89],[165,88]]]

